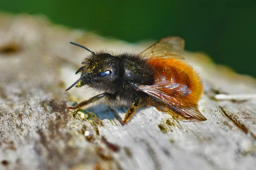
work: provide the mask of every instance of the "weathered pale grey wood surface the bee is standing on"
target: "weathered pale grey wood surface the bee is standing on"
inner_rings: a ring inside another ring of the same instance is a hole
[[[150,107],[122,126],[125,110],[104,104],[73,116],[61,109],[95,93],[64,91],[87,54],[70,41],[115,51],[152,42],[105,39],[43,17],[0,18],[0,169],[255,170],[256,100],[213,96],[256,94],[256,79],[187,52],[204,82],[199,109],[207,121],[182,122]]]

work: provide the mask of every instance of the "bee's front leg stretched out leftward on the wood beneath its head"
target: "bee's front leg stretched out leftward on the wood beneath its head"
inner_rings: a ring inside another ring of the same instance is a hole
[[[93,102],[96,102],[99,99],[102,98],[107,98],[107,99],[115,99],[116,98],[116,94],[110,94],[110,93],[103,93],[103,94],[99,94],[97,96],[94,96],[92,98],[90,98],[89,100],[85,100],[83,102],[80,102],[79,104],[77,104],[75,107],[69,107],[67,108],[67,110],[69,111],[70,109],[78,109],[81,108],[82,106],[86,106],[89,105]]]

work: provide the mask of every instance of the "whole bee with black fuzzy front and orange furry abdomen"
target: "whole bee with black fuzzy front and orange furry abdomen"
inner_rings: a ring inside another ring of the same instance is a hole
[[[197,102],[203,92],[198,74],[182,61],[184,40],[165,37],[139,54],[109,54],[90,52],[76,71],[81,77],[74,85],[84,85],[104,91],[74,107],[78,109],[104,99],[107,105],[129,106],[123,124],[127,123],[138,108],[154,106],[160,111],[177,113],[184,119],[207,120],[198,110]]]

